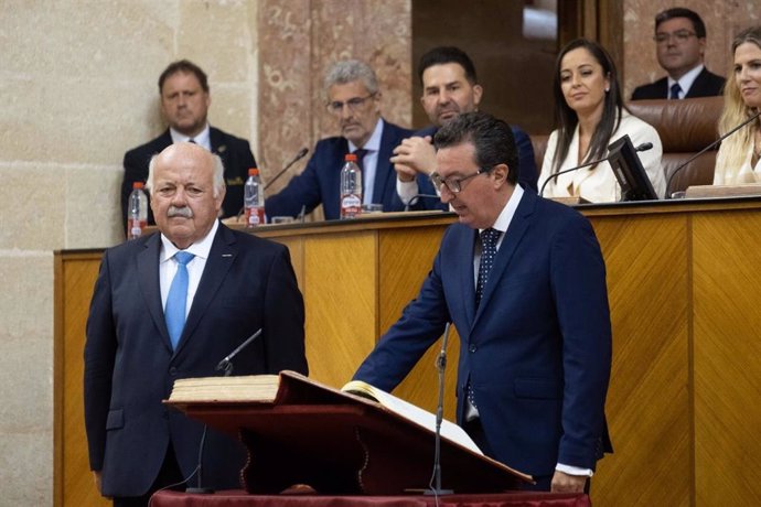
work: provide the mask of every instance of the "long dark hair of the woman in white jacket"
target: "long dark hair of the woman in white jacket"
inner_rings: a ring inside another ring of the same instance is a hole
[[[608,150],[608,144],[610,138],[619,128],[619,122],[621,121],[621,111],[625,109],[623,107],[623,99],[621,98],[621,89],[619,87],[618,73],[615,71],[615,64],[613,58],[610,57],[608,52],[600,44],[587,39],[576,39],[569,42],[566,46],[560,50],[557,61],[555,62],[555,77],[553,83],[553,93],[555,95],[555,118],[558,125],[558,145],[555,152],[555,160],[553,161],[553,172],[557,172],[560,169],[560,164],[568,155],[568,148],[570,147],[571,139],[574,138],[574,131],[576,126],[579,123],[579,117],[576,111],[568,106],[566,103],[566,97],[562,95],[562,88],[560,86],[560,66],[562,64],[562,58],[574,50],[585,48],[597,60],[597,62],[602,66],[602,73],[608,76],[610,82],[610,89],[605,93],[604,106],[602,109],[602,117],[600,122],[594,128],[592,133],[592,139],[589,142],[589,149],[587,150],[585,162],[594,159],[601,159],[604,157]]]

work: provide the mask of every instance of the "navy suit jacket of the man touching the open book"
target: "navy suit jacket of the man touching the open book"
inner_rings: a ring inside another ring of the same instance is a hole
[[[470,379],[496,460],[535,475],[594,468],[608,442],[605,268],[589,222],[525,192],[475,308],[478,230],[450,226],[420,293],[355,378],[393,389],[451,321],[460,336],[458,422]],[[608,445],[609,446],[609,445]]]

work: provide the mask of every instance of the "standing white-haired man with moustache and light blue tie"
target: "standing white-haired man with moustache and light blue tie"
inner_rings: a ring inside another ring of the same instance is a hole
[[[160,234],[106,250],[100,265],[86,331],[85,423],[96,484],[115,506],[144,506],[196,468],[203,424],[161,403],[174,380],[219,375],[217,363],[259,328],[235,374],[308,373],[288,249],[217,219],[223,172],[197,144],[164,149],[147,185]],[[244,462],[236,439],[210,429],[202,485],[239,487]]]

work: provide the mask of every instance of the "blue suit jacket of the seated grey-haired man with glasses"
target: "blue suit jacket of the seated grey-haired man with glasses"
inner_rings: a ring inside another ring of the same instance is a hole
[[[396,193],[396,171],[389,159],[394,148],[410,133],[411,131],[386,120],[383,122],[373,203],[383,204],[384,212],[399,212],[405,208]],[[345,138],[319,141],[303,172],[293,177],[278,194],[267,197],[267,216],[297,216],[301,213],[301,206],[306,206],[306,213],[310,213],[322,204],[326,220],[341,218],[339,186],[346,153],[349,141]]]

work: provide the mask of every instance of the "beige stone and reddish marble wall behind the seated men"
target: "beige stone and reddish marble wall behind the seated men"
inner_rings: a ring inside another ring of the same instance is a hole
[[[53,504],[53,251],[121,241],[121,159],[165,128],[161,71],[182,57],[204,68],[210,121],[248,138],[267,177],[334,133],[320,80],[335,58],[371,62],[387,116],[409,123],[409,0],[0,1],[1,505]]]

